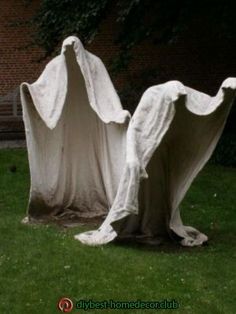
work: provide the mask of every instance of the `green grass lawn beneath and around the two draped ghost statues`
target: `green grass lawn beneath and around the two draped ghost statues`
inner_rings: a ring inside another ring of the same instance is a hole
[[[26,151],[0,150],[1,314],[59,313],[56,304],[63,296],[74,302],[175,299],[178,310],[159,312],[236,313],[236,169],[208,165],[181,205],[185,224],[209,236],[208,246],[199,248],[171,243],[87,247],[73,235],[88,227],[21,224],[28,191]]]

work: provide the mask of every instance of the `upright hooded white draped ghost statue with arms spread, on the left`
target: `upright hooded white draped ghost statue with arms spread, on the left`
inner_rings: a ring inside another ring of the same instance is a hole
[[[29,216],[107,214],[125,160],[130,114],[101,60],[69,37],[39,79],[21,85],[21,98],[31,174]]]

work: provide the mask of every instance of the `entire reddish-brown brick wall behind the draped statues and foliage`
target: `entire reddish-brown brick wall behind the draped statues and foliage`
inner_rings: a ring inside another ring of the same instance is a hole
[[[37,7],[26,7],[23,0],[8,0],[1,3],[0,11],[0,96],[13,91],[23,81],[34,81],[45,65],[37,63],[42,51],[38,48],[21,49],[30,39],[27,27],[11,27],[10,23],[27,20]],[[115,12],[114,12],[115,13]],[[111,12],[100,28],[99,35],[86,48],[98,55],[108,66],[117,53],[114,34],[117,25],[115,14]],[[205,36],[207,33],[207,36]],[[207,38],[207,39],[206,39]],[[112,75],[115,87],[121,91],[129,86],[132,78],[137,79],[143,68],[155,67],[157,75],[152,81],[145,81],[138,91],[133,106],[136,105],[144,89],[150,84],[159,84],[177,79],[184,84],[206,93],[215,94],[224,78],[235,76],[236,43],[226,38],[219,39],[208,20],[192,22],[178,44],[154,46],[143,43],[135,50],[135,56],[127,71]],[[124,105],[126,106],[125,100]]]

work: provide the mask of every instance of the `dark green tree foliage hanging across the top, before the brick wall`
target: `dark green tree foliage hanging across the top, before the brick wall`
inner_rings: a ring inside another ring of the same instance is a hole
[[[199,23],[207,19],[218,37],[235,38],[236,19],[231,0],[42,0],[31,20],[35,29],[33,43],[50,55],[72,34],[84,43],[91,42],[111,12],[119,24],[114,38],[120,45],[120,55],[115,60],[117,68],[127,67],[132,48],[140,42],[176,41],[193,19]]]

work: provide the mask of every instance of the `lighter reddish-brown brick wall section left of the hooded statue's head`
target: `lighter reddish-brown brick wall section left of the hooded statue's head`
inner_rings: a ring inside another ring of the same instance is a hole
[[[26,21],[34,11],[33,6],[25,6],[22,0],[1,1],[0,11],[0,95],[15,89],[22,81],[33,81],[43,68],[43,64],[32,62],[41,55],[37,48],[23,49],[29,43],[29,27],[14,27],[16,21]]]

